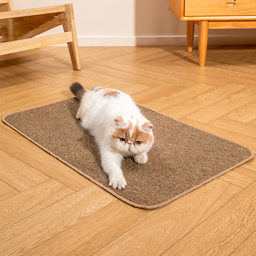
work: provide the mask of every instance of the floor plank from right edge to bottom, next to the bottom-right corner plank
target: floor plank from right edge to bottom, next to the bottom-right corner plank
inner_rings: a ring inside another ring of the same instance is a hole
[[[255,188],[256,181],[169,248],[163,256],[230,255],[237,244],[243,243],[255,231]],[[236,212],[236,218],[231,212]]]

